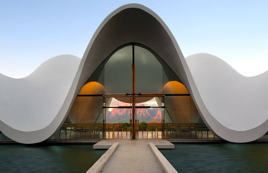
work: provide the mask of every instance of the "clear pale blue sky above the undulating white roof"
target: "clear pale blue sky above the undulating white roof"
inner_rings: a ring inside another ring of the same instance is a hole
[[[245,76],[268,70],[268,1],[0,0],[0,73],[21,78],[62,54],[82,58],[113,10],[143,4],[175,36],[184,57],[209,53]]]

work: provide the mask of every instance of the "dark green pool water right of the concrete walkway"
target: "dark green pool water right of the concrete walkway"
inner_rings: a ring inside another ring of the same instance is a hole
[[[161,153],[178,172],[268,172],[268,143],[174,143]]]

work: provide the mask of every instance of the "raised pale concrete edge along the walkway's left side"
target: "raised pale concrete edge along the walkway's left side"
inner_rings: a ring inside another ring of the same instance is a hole
[[[115,142],[103,155],[99,158],[99,160],[91,166],[90,169],[86,173],[97,173],[102,169],[102,166],[107,162],[110,156],[115,151],[116,147],[118,146],[118,142]]]

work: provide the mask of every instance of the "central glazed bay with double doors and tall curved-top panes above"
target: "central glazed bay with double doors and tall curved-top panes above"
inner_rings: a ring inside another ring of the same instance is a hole
[[[105,63],[105,71],[110,72],[105,73],[104,82],[105,137],[163,138],[163,61],[161,58],[147,47],[132,43],[121,47]],[[120,78],[115,80],[114,76]],[[113,129],[112,135],[109,126]]]

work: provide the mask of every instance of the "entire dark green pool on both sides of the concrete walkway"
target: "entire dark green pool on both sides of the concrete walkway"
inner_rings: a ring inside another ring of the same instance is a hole
[[[178,172],[268,172],[268,143],[174,145],[160,151]],[[105,152],[91,144],[0,145],[0,172],[86,172]]]

